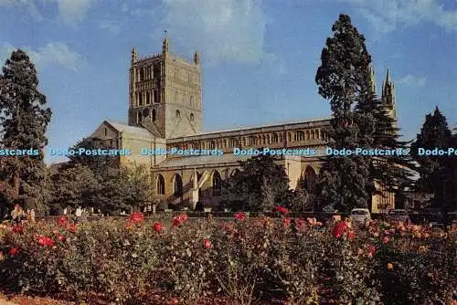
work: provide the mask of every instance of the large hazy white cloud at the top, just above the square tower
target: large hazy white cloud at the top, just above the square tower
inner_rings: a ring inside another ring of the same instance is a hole
[[[255,0],[163,0],[171,41],[202,51],[205,61],[259,63],[267,17]]]

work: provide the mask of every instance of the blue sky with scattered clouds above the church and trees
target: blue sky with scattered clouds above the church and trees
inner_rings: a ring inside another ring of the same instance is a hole
[[[456,0],[0,0],[0,60],[37,64],[65,149],[105,119],[126,121],[130,53],[202,52],[204,131],[327,117],[316,68],[340,13],[367,37],[377,91],[395,81],[405,139],[436,105],[457,123]],[[56,159],[47,157],[47,162]]]

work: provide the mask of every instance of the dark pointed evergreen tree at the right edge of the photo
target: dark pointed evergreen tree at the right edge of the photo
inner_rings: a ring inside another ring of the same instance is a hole
[[[416,141],[411,144],[411,155],[419,164],[420,173],[416,190],[434,194],[432,205],[443,209],[450,209],[452,205],[455,208],[455,158],[447,155],[420,155],[419,149],[438,148],[447,151],[452,144],[452,132],[438,107],[433,114],[426,115]]]

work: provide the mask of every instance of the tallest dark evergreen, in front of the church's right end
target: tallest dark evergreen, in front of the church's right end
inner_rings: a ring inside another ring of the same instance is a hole
[[[333,118],[327,131],[329,146],[336,150],[367,147],[374,130],[372,115],[355,113],[357,100],[366,99],[371,88],[365,37],[351,24],[349,16],[340,15],[332,26],[334,37],[328,37],[321,55],[315,82],[319,94],[330,101]],[[350,210],[365,207],[372,182],[365,157],[338,156],[324,159],[317,191],[320,206]]]

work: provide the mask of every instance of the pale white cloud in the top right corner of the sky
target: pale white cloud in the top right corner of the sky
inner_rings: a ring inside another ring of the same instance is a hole
[[[379,31],[389,32],[397,26],[414,26],[430,22],[457,31],[457,10],[445,9],[441,0],[340,0],[358,8],[359,13]],[[455,0],[449,0],[455,1]]]

